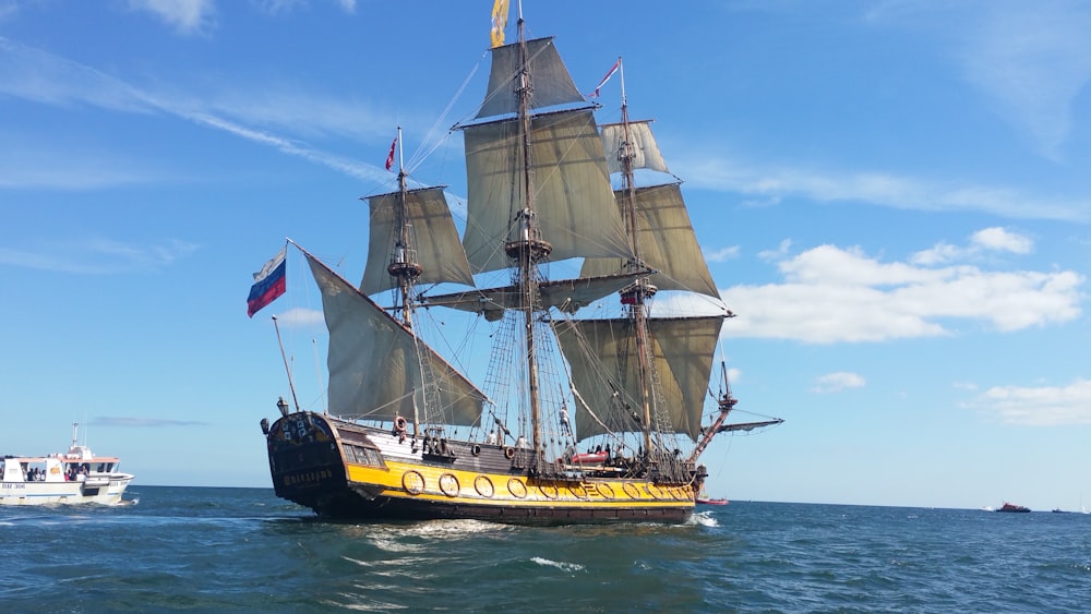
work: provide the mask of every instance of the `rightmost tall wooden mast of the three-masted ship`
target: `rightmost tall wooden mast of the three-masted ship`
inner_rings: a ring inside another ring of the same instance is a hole
[[[636,182],[633,173],[633,139],[628,127],[628,101],[625,98],[625,68],[621,58],[618,58],[618,70],[621,73],[621,122],[624,133],[624,143],[619,152],[622,168],[622,190],[625,193],[623,203],[625,228],[631,241],[634,258],[628,262],[628,270],[642,270],[647,267],[640,255],[639,226],[636,215]],[[630,317],[633,321],[636,337],[636,354],[638,357],[638,375],[640,380],[640,405],[643,413],[642,429],[644,431],[644,449],[651,454],[651,428],[652,428],[652,386],[650,354],[648,345],[648,325],[646,300],[656,293],[656,287],[651,284],[647,275],[643,275],[630,288],[622,292],[622,303],[628,306]]]

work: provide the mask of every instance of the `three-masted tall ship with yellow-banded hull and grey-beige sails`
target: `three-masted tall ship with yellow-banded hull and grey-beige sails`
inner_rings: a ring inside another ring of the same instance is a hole
[[[281,397],[279,418],[262,420],[276,494],[340,518],[685,521],[712,437],[781,420],[728,423],[736,400],[724,380],[703,423],[733,314],[681,180],[650,121],[628,119],[623,74],[622,120],[598,125],[599,105],[577,91],[552,38],[526,39],[521,15],[518,41],[491,59],[479,112],[455,127],[468,178],[461,239],[444,188],[410,188],[399,161],[398,189],[367,197],[359,286],[288,241],[322,294],[328,408]],[[642,169],[670,180],[638,184]],[[554,279],[562,262],[578,275]],[[497,274],[499,285],[478,286]],[[658,291],[715,309],[660,313]],[[582,316],[608,309],[616,316]],[[425,340],[422,323],[439,310],[489,327],[480,386],[461,365],[483,358],[444,358]]]

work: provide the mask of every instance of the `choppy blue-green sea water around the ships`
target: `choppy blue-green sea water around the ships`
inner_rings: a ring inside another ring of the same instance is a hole
[[[1091,516],[732,502],[687,525],[314,518],[271,489],[0,508],[0,611],[1079,612]]]

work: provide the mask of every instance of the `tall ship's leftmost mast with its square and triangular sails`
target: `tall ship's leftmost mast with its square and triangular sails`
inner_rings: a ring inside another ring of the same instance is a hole
[[[358,287],[297,248],[322,292],[329,330],[329,413],[395,423],[411,417],[416,435],[421,424],[479,423],[487,397],[415,330],[417,285],[473,286],[473,276],[444,186],[410,188],[400,158],[396,191],[362,198],[370,208],[369,242]],[[371,299],[383,292],[393,293],[393,309]]]

